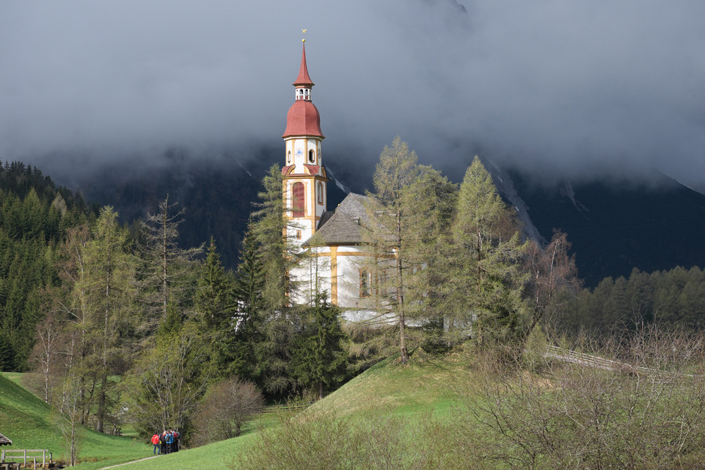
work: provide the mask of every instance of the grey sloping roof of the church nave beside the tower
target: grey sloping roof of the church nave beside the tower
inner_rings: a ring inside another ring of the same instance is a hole
[[[362,194],[348,194],[336,211],[324,212],[317,232],[304,245],[357,245],[364,242],[364,228],[360,223],[367,221],[364,206],[367,199]]]

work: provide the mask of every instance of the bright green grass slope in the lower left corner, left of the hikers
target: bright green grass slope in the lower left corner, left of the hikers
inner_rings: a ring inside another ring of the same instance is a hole
[[[13,441],[11,447],[6,448],[48,449],[54,459],[63,459],[66,453],[63,436],[49,419],[49,405],[4,375],[0,375],[0,433]],[[90,466],[99,468],[101,462],[127,462],[147,457],[149,452],[152,447],[142,440],[86,430],[79,459],[94,462]]]

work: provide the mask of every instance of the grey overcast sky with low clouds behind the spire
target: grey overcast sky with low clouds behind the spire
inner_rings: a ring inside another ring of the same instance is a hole
[[[372,173],[400,135],[445,168],[482,149],[540,173],[705,181],[704,1],[459,3],[1,1],[0,159],[283,155],[307,28],[333,168]]]

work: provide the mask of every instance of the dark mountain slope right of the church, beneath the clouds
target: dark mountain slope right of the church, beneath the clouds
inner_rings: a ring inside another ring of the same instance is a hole
[[[635,267],[705,267],[705,195],[662,173],[654,171],[649,183],[565,179],[555,185],[517,171],[508,175],[544,239],[554,228],[568,233],[589,287],[607,276],[629,276]]]

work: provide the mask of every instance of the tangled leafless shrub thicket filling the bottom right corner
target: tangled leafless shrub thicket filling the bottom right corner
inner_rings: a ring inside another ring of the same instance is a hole
[[[649,328],[611,338],[599,350],[620,359],[611,365],[478,374],[451,437],[469,460],[513,469],[700,468],[705,381],[690,373],[702,370],[704,345],[701,334]]]

